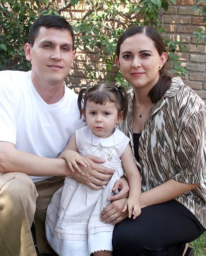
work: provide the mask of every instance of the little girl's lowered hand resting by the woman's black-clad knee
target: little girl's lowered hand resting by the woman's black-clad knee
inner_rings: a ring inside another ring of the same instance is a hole
[[[131,216],[133,215],[133,219],[135,219],[141,214],[140,203],[136,196],[129,196],[129,198],[125,202],[125,205],[122,211],[126,212],[126,210],[128,210],[129,212],[129,215],[128,215],[129,218],[131,218]]]

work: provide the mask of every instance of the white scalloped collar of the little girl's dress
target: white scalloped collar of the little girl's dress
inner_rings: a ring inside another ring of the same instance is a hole
[[[124,133],[117,128],[115,128],[114,133],[108,138],[97,137],[94,133],[92,133],[88,126],[82,127],[80,129],[80,133],[85,141],[94,146],[97,146],[98,144],[101,144],[103,147],[116,146],[124,138]]]

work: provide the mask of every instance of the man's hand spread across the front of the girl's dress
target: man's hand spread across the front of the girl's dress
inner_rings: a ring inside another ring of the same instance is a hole
[[[105,162],[98,157],[88,156],[86,159],[89,166],[81,165],[81,172],[71,172],[69,176],[93,190],[100,190],[103,185],[107,185],[114,170],[98,165]]]

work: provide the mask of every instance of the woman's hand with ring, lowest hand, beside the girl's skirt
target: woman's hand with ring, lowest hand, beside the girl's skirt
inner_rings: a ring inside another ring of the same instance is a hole
[[[104,223],[117,224],[126,217],[128,217],[128,211],[123,212],[124,205],[127,198],[118,199],[111,202],[100,214],[100,219]]]

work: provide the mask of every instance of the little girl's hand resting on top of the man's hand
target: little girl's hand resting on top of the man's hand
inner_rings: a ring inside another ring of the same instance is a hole
[[[81,172],[81,169],[77,165],[77,163],[83,165],[84,167],[89,167],[88,161],[81,157],[78,152],[74,150],[66,150],[63,153],[61,153],[60,158],[64,159],[68,167],[74,172],[74,168],[78,171]],[[73,168],[74,167],[74,168]]]

